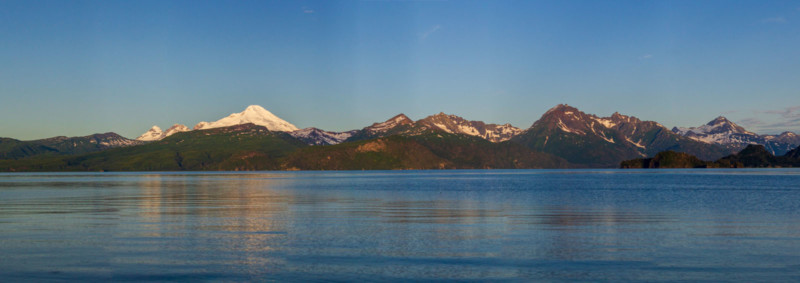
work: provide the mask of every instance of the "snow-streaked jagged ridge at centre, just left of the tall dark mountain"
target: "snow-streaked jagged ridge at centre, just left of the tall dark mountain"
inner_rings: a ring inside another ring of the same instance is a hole
[[[522,129],[511,126],[511,124],[486,124],[481,121],[468,121],[459,116],[444,113],[425,117],[415,123],[417,126],[425,126],[452,134],[477,136],[491,142],[506,141],[522,132]]]

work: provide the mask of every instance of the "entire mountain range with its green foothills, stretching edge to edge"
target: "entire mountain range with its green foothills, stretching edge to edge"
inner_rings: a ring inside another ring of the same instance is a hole
[[[258,143],[266,140],[281,144],[280,150],[264,151]],[[35,141],[1,138],[0,171],[593,168],[617,167],[623,160],[663,151],[715,160],[750,144],[780,155],[800,145],[800,137],[791,132],[757,135],[724,117],[670,130],[633,116],[598,117],[565,104],[527,129],[439,113],[416,121],[398,114],[361,129],[331,132],[298,129],[251,105],[192,129],[153,126],[135,140],[114,133]],[[137,154],[154,159],[133,162],[143,158]]]

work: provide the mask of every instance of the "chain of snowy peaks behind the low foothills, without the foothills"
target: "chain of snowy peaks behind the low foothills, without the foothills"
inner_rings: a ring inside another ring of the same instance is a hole
[[[404,114],[359,130],[330,132],[318,128],[298,129],[261,106],[251,105],[215,122],[200,122],[194,130],[223,128],[244,124],[263,126],[269,131],[287,132],[308,145],[334,145],[392,135],[416,136],[434,132],[470,135],[491,142],[514,141],[535,151],[551,153],[575,164],[615,167],[620,161],[653,156],[675,150],[714,160],[744,148],[763,144],[770,152],[782,155],[800,145],[800,137],[786,132],[759,136],[719,117],[706,125],[669,130],[653,121],[614,113],[609,117],[587,114],[565,104],[548,110],[533,125],[522,130],[510,124],[486,124],[456,115],[439,113],[411,120]],[[161,130],[153,126],[138,141],[161,140],[177,132],[190,131],[184,125]]]

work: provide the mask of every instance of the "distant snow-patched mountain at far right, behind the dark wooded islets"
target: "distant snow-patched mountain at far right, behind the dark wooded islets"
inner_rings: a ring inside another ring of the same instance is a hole
[[[722,145],[733,151],[742,150],[750,144],[760,144],[774,155],[783,155],[800,145],[800,137],[792,132],[759,135],[722,116],[699,127],[674,127],[672,132],[696,141]]]

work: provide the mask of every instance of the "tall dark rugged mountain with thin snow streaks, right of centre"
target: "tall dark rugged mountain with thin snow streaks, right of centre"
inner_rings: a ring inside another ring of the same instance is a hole
[[[707,160],[731,153],[681,137],[653,121],[619,113],[598,117],[565,104],[551,108],[511,140],[590,167],[616,167],[622,160],[664,150],[687,152]]]

